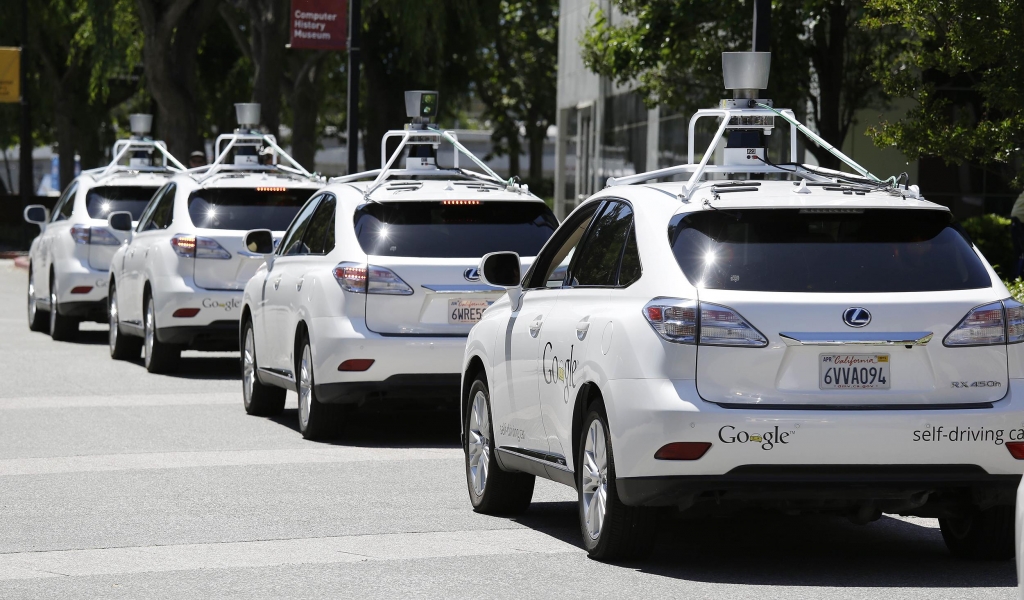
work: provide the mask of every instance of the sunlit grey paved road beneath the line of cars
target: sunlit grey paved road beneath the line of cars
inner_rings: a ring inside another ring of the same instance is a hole
[[[337,440],[242,409],[237,358],[176,376],[108,356],[105,328],[26,325],[0,261],[0,598],[1013,598],[1012,563],[951,559],[937,523],[751,515],[667,523],[651,560],[580,549],[574,492],[469,509],[457,417],[357,416]]]

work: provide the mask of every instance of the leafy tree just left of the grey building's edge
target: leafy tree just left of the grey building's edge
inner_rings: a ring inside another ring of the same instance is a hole
[[[529,183],[539,188],[544,141],[556,114],[558,2],[501,0],[489,25],[493,41],[478,51],[475,79],[495,154],[508,154],[509,172],[518,175],[519,131],[525,129]]]

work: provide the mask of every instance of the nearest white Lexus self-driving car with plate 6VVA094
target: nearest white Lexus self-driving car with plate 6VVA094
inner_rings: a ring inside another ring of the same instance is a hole
[[[952,554],[1011,558],[1024,306],[915,186],[838,151],[862,174],[770,163],[791,112],[725,100],[690,148],[705,117],[699,163],[610,180],[521,278],[482,261],[508,294],[463,365],[474,508],[560,481],[602,559],[643,555],[665,509],[748,506],[937,517]]]

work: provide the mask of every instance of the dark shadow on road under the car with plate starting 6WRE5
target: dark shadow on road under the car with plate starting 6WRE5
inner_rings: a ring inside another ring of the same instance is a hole
[[[299,431],[298,409],[285,409],[270,421]],[[459,447],[459,411],[364,406],[345,414],[333,435],[316,441],[353,447]]]

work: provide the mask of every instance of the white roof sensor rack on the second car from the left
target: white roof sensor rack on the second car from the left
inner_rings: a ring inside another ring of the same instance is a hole
[[[209,165],[188,169],[188,173],[196,176],[197,180],[206,181],[216,175],[229,173],[275,173],[309,181],[324,180],[321,175],[307,171],[278,145],[278,139],[273,135],[259,130],[258,103],[234,104],[234,116],[239,127],[232,133],[217,136],[214,161]],[[269,164],[264,164],[261,159],[269,161]]]

